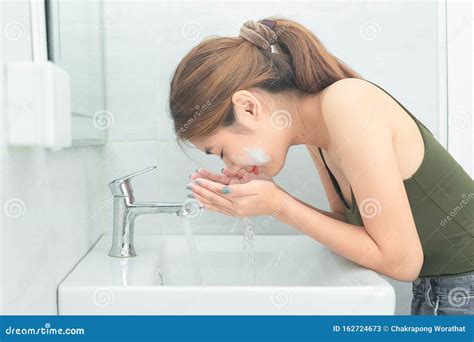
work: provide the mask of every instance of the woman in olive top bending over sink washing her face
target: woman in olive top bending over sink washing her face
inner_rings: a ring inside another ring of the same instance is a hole
[[[175,71],[170,110],[178,142],[227,166],[191,175],[190,196],[204,208],[272,215],[366,268],[413,282],[412,314],[474,313],[472,179],[403,105],[307,28],[250,20],[239,37],[202,41]],[[271,178],[298,144],[331,212]]]

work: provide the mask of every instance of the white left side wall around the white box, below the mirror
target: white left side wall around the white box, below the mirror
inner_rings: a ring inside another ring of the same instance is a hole
[[[0,14],[0,314],[55,315],[58,284],[101,234],[103,148],[7,145],[3,63],[31,60],[29,4]]]

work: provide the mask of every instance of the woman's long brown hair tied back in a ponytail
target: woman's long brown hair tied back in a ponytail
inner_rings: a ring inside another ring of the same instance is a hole
[[[212,37],[179,63],[169,97],[178,143],[212,135],[220,127],[243,131],[231,101],[238,90],[259,88],[304,96],[340,79],[361,78],[303,25],[281,17],[267,19],[276,22],[273,31],[280,53],[242,37]]]

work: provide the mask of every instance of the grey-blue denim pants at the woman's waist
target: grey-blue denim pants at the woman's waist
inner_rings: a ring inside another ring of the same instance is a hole
[[[412,315],[474,315],[474,271],[412,282]]]

